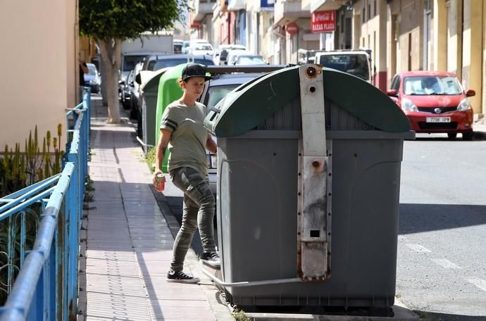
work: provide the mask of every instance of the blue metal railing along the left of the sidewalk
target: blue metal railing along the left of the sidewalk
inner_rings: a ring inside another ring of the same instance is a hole
[[[8,253],[3,253],[8,258],[8,264],[4,265],[8,268],[8,284],[4,289],[8,298],[0,308],[0,320],[74,320],[76,317],[90,101],[89,89],[84,89],[82,103],[66,114],[68,142],[61,174],[0,199],[0,220],[8,219],[9,227]],[[34,244],[27,249],[26,217],[37,218],[30,208],[32,205],[40,206],[42,215],[40,222],[36,222]],[[20,247],[20,257],[16,256],[16,244]],[[17,261],[20,267],[16,267]],[[18,275],[13,282],[15,268]]]

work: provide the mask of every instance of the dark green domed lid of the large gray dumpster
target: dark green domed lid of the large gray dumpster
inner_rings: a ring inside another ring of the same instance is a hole
[[[217,137],[244,134],[300,96],[299,67],[277,70],[227,94],[204,125]],[[323,68],[325,98],[373,127],[408,132],[410,121],[390,97],[359,77]]]

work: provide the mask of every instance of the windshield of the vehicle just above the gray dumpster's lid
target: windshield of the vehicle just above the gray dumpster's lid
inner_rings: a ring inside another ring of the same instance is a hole
[[[320,56],[319,64],[369,80],[368,58],[364,54],[349,53]]]

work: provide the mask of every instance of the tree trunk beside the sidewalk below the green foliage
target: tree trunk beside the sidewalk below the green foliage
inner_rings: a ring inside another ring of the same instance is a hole
[[[121,39],[97,40],[101,60],[106,67],[106,94],[108,98],[108,124],[120,123],[120,102],[118,101],[118,70],[121,61]]]

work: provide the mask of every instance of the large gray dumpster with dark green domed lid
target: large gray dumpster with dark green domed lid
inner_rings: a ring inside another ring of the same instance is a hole
[[[232,303],[393,305],[402,146],[414,134],[391,99],[304,65],[235,89],[205,125],[218,137],[215,280]]]

